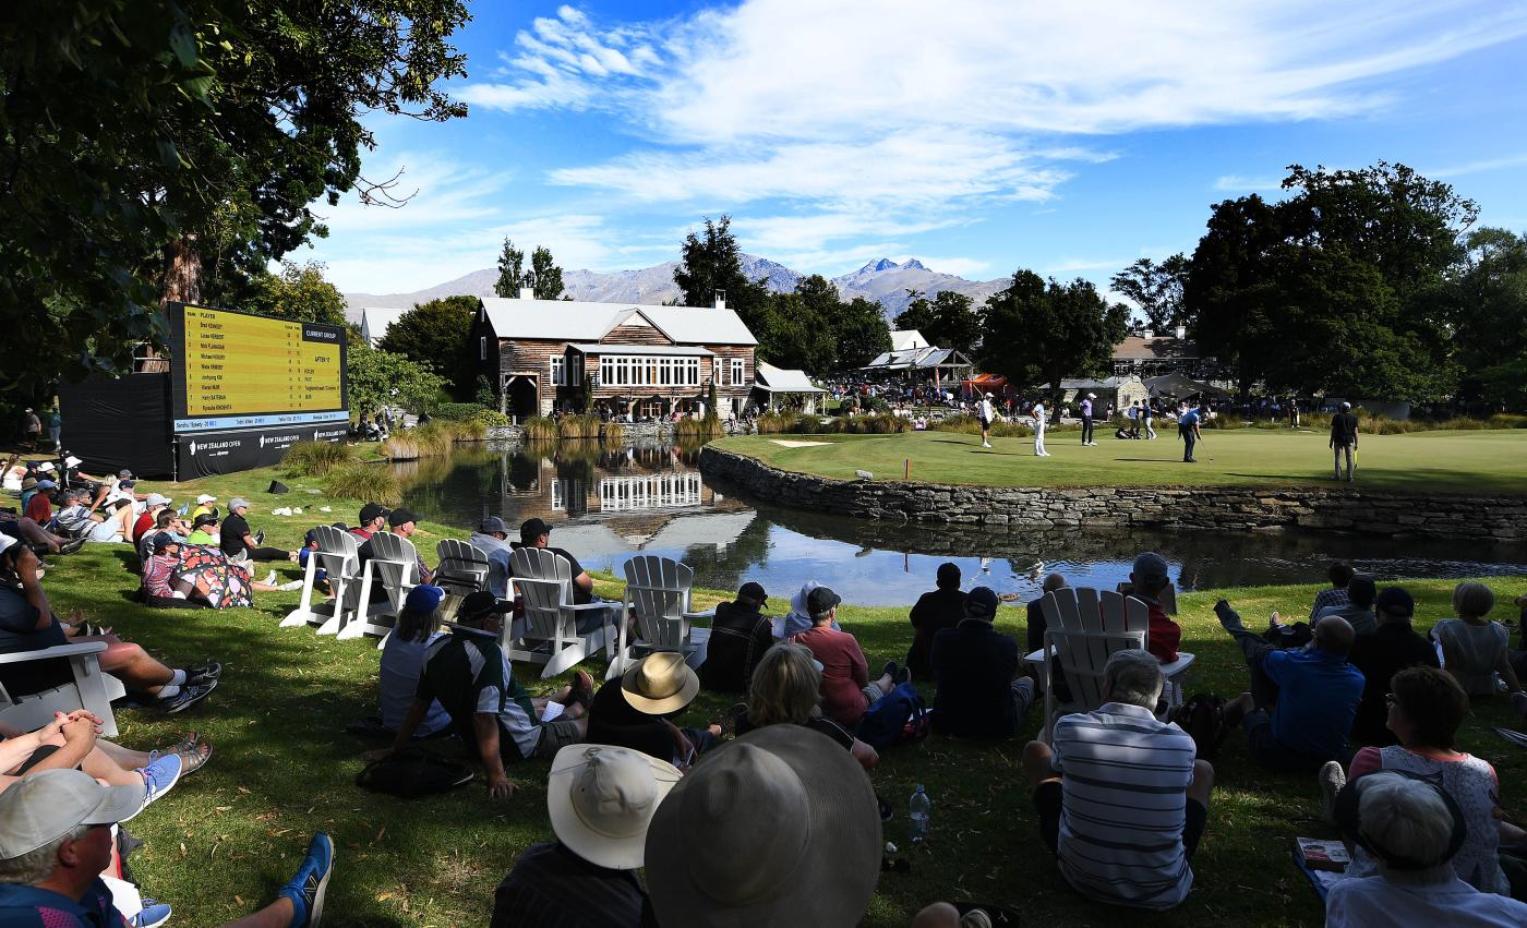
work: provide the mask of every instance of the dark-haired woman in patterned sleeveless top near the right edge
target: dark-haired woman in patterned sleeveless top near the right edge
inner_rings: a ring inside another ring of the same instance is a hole
[[[1379,771],[1396,771],[1435,783],[1463,814],[1467,836],[1452,856],[1458,879],[1481,893],[1510,894],[1501,870],[1501,839],[1521,836],[1521,829],[1503,821],[1501,785],[1487,760],[1455,749],[1458,728],[1469,717],[1469,696],[1446,672],[1411,667],[1390,681],[1388,725],[1399,745],[1362,748],[1342,774],[1335,760],[1321,768],[1319,781],[1327,815],[1336,809],[1344,786],[1361,783]],[[1365,847],[1353,849],[1347,876],[1373,876],[1380,862]]]

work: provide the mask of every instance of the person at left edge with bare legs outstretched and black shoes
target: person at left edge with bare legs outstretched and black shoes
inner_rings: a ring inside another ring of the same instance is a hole
[[[223,665],[215,662],[171,670],[148,656],[142,647],[121,641],[108,630],[99,635],[82,633],[89,629],[81,627],[78,614],[73,618],[75,624],[69,627],[53,615],[37,577],[37,556],[26,545],[5,543],[0,536],[0,653],[102,641],[107,649],[99,655],[101,669],[168,713],[179,713],[205,699],[223,675]],[[0,684],[12,698],[60,684],[53,669],[37,664],[0,664]]]

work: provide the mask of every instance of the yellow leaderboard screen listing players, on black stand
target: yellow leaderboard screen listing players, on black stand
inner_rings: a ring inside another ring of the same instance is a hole
[[[345,330],[169,304],[176,432],[348,421]]]

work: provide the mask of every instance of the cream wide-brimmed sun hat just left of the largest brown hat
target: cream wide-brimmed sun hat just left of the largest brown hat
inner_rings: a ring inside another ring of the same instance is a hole
[[[635,870],[658,804],[683,777],[672,763],[638,751],[568,745],[547,778],[551,830],[596,867]]]

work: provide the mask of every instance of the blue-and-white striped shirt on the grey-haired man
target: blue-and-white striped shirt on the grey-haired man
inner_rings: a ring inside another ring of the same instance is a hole
[[[1193,887],[1182,844],[1193,739],[1147,708],[1109,702],[1055,722],[1060,870],[1078,891],[1171,908]]]

